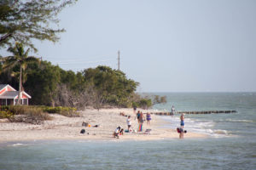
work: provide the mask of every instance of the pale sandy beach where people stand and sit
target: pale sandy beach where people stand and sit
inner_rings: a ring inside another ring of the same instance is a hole
[[[143,111],[143,110],[140,110]],[[143,130],[152,129],[150,134],[124,133],[119,139],[113,138],[113,131],[121,126],[127,129],[127,116],[120,116],[119,113],[131,116],[132,127],[137,129],[137,120],[131,109],[102,109],[80,111],[80,117],[66,117],[58,114],[51,114],[52,120],[45,121],[42,125],[27,123],[8,122],[0,120],[0,143],[12,141],[31,141],[49,139],[84,139],[84,140],[156,140],[178,138],[175,129],[164,128],[165,122],[160,116],[152,115],[151,125],[144,122]],[[146,113],[147,111],[143,111]],[[82,127],[83,122],[88,122],[91,127]],[[98,125],[98,127],[94,127]],[[178,125],[177,125],[178,126]],[[85,133],[80,133],[81,129]],[[189,129],[188,129],[189,130]],[[207,135],[201,133],[185,133],[187,138],[205,138]]]

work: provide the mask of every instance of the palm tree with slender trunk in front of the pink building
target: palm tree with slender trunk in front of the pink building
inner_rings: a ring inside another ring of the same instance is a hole
[[[19,77],[19,97],[18,97],[18,102],[16,105],[20,105],[20,94],[21,94],[21,88],[22,88],[22,71],[26,70],[27,64],[32,63],[32,62],[38,62],[39,59],[35,58],[33,56],[28,56],[29,48],[26,49],[26,52],[23,48],[22,43],[16,42],[15,47],[10,47],[8,48],[8,51],[12,54],[13,56],[8,56],[3,59],[3,71],[6,71],[8,69],[12,69],[16,65],[20,66],[20,77]]]

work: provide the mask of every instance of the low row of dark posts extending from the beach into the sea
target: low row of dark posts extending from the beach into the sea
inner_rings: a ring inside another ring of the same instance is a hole
[[[218,113],[236,113],[237,111],[176,111],[175,114],[218,114]],[[151,112],[154,115],[172,116],[172,112]]]

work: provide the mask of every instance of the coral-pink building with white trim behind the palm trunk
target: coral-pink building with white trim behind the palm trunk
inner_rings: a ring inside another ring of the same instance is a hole
[[[12,88],[9,84],[0,84],[0,105],[15,105],[18,102],[19,91]],[[28,105],[31,96],[26,92],[21,92],[20,104]]]

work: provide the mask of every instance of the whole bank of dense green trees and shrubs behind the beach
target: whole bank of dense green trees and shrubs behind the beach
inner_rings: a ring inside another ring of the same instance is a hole
[[[0,83],[19,88],[19,79],[11,74],[19,70],[20,66],[16,65],[9,71],[1,71]],[[124,72],[108,66],[75,73],[42,61],[40,64],[28,63],[24,74],[26,82],[23,82],[23,87],[32,96],[31,105],[70,106],[79,109],[84,109],[85,106],[99,109],[103,106],[132,105],[147,108],[152,105],[150,99],[142,99],[135,93],[138,82],[125,77]]]

